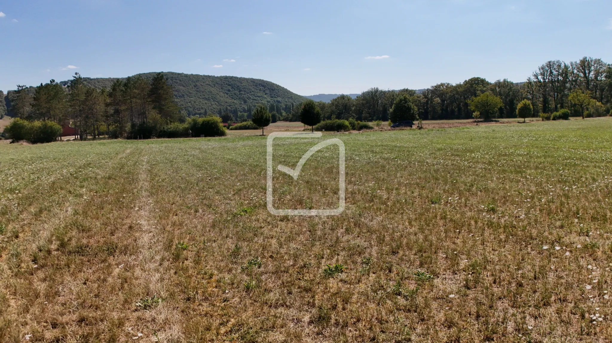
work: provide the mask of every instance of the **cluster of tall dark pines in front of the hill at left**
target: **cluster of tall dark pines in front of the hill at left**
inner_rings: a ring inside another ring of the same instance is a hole
[[[17,85],[10,101],[13,116],[71,125],[80,139],[89,135],[136,138],[159,132],[181,117],[172,87],[158,73],[115,81],[110,89],[87,85],[75,73],[67,87],[51,80],[37,87]]]

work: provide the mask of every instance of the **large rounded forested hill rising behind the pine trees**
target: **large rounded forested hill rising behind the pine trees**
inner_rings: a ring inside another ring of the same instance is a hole
[[[236,76],[212,76],[183,73],[163,73],[174,88],[176,101],[187,115],[218,113],[226,106],[246,112],[247,105],[263,103],[297,104],[305,100],[287,88],[270,81]],[[155,73],[139,74],[152,78]],[[117,78],[84,78],[84,83],[95,88],[110,88]],[[121,78],[124,79],[124,78]],[[61,84],[67,85],[69,81]]]

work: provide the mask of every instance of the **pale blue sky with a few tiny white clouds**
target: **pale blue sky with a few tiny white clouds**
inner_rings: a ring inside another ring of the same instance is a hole
[[[612,62],[610,0],[5,0],[0,12],[5,92],[75,71],[176,71],[359,93]]]

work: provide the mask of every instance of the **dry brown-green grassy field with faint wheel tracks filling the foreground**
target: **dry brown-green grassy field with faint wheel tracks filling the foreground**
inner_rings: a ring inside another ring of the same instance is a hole
[[[0,341],[612,339],[611,118],[332,137],[0,145]]]

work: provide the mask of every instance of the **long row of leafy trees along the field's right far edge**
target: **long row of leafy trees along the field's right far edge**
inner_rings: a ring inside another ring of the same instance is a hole
[[[529,117],[561,109],[570,110],[574,116],[597,117],[612,110],[612,67],[591,57],[570,63],[554,60],[537,68],[526,82],[471,78],[455,85],[437,84],[419,92],[370,88],[356,99],[340,95],[330,103],[319,101],[316,106],[324,120],[394,121],[395,101],[401,98],[403,106],[408,106],[404,96],[408,97],[411,110],[414,106],[416,117],[424,120],[468,119],[474,112],[480,112],[484,119],[516,118],[518,104],[524,100],[531,104]],[[300,120],[302,104],[271,104],[269,112],[273,106],[283,107],[277,112],[278,120]],[[482,107],[484,110],[479,110]]]

